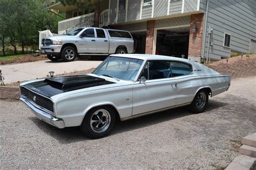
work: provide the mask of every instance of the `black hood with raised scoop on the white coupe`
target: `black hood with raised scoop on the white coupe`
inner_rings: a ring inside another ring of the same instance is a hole
[[[42,94],[43,96],[52,97],[60,93],[108,84],[114,84],[114,82],[85,74],[78,76],[46,78],[23,86],[26,89]]]

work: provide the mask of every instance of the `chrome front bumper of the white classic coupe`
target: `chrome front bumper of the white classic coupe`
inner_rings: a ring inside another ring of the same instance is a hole
[[[25,105],[27,105],[40,120],[43,120],[46,123],[58,128],[65,127],[64,121],[62,119],[55,118],[51,114],[40,110],[39,108],[34,106],[28,99],[21,97],[19,98],[19,100],[21,100]]]

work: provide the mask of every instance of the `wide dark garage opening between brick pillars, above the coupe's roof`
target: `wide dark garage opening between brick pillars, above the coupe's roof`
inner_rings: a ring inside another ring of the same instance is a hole
[[[188,57],[190,28],[157,30],[156,55]]]

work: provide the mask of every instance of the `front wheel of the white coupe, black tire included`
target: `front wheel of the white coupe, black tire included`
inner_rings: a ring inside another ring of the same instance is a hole
[[[98,139],[110,132],[115,121],[116,111],[113,108],[99,106],[86,113],[80,129],[87,137]]]

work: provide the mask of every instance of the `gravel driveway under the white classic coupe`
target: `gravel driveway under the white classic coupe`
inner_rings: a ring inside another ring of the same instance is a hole
[[[48,125],[21,102],[0,101],[0,167],[225,168],[241,138],[256,132],[256,77],[231,83],[204,113],[177,108],[119,122],[97,140]]]

